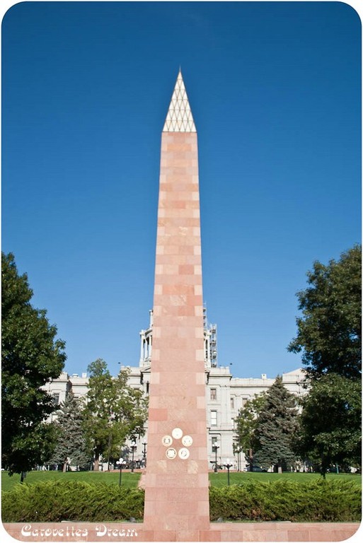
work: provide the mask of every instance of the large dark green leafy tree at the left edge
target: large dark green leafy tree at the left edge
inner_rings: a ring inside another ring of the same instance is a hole
[[[46,311],[30,304],[27,275],[18,275],[11,253],[1,257],[1,460],[13,474],[41,464],[52,452],[54,428],[44,421],[55,407],[40,387],[59,377],[66,355]]]

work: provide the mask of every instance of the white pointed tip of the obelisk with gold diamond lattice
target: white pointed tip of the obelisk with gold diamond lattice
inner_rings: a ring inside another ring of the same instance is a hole
[[[197,132],[181,71],[175,83],[163,132]]]

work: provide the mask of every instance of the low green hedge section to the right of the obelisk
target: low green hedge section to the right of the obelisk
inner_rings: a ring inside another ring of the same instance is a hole
[[[210,519],[352,522],[361,518],[362,491],[352,481],[253,481],[209,491]]]

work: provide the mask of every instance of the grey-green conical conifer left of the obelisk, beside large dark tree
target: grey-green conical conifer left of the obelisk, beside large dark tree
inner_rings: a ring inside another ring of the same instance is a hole
[[[57,431],[57,443],[49,462],[62,464],[63,471],[67,466],[86,467],[91,461],[91,452],[87,448],[83,431],[83,412],[81,401],[69,392],[57,413],[54,427]]]

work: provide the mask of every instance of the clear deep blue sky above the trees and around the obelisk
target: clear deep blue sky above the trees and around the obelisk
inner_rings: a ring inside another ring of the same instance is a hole
[[[200,149],[219,365],[300,366],[295,293],[360,242],[360,21],[338,2],[40,2],[3,22],[2,247],[66,370],[139,363],[179,65]]]

